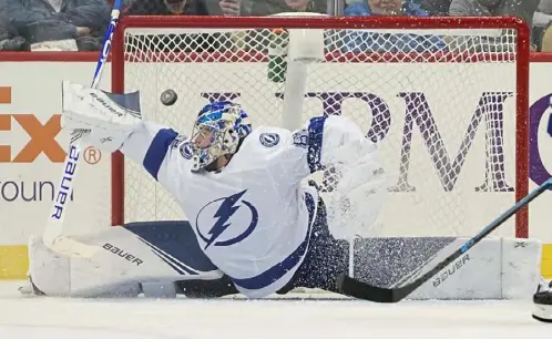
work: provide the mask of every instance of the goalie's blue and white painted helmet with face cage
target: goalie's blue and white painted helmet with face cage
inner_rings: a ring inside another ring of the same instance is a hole
[[[252,132],[239,104],[219,101],[204,106],[192,131],[192,171],[205,168],[219,156],[234,154],[239,140]]]

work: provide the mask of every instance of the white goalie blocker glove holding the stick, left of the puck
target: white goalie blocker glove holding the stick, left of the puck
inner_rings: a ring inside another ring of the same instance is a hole
[[[109,152],[120,150],[142,124],[139,92],[111,94],[63,81],[62,111],[64,131],[85,131],[84,143]]]

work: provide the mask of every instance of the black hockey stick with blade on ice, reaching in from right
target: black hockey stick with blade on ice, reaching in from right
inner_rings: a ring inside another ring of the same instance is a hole
[[[515,205],[510,207],[507,212],[501,214],[498,218],[492,220],[485,228],[483,228],[480,233],[478,233],[473,238],[468,240],[462,245],[459,249],[457,249],[453,254],[447,257],[441,263],[437,264],[436,267],[423,274],[421,277],[416,279],[415,281],[407,284],[401,287],[396,288],[382,288],[371,286],[369,284],[359,281],[355,278],[348,277],[345,274],[340,275],[337,278],[337,289],[346,296],[375,301],[375,302],[398,302],[413,292],[418,287],[423,285],[426,281],[431,279],[435,275],[446,268],[450,263],[458,259],[461,255],[467,253],[471,247],[473,247],[481,239],[491,234],[494,229],[497,229],[500,225],[502,225],[505,220],[508,220],[512,215],[518,213],[521,208],[525,207],[529,203],[531,203],[539,195],[544,193],[548,188],[552,187],[552,178],[545,181],[541,186],[535,188],[533,192],[524,196],[521,201],[519,201]]]

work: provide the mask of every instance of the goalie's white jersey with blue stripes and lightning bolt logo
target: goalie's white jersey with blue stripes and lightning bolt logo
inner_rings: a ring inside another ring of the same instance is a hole
[[[173,195],[206,256],[251,297],[283,288],[305,258],[318,195],[301,181],[335,160],[374,160],[375,150],[340,116],[314,117],[294,133],[257,127],[217,172],[192,172],[190,141],[151,122],[122,148]]]

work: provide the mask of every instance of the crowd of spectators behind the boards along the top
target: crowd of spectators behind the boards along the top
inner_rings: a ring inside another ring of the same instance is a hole
[[[110,21],[109,0],[0,0],[0,51],[98,51]],[[270,16],[318,12],[330,16],[515,16],[532,31],[531,49],[542,50],[552,23],[552,0],[125,0],[123,16]],[[350,35],[349,50],[380,47],[377,38]],[[387,38],[386,38],[387,39]],[[440,41],[428,40],[439,47]],[[401,50],[411,38],[397,40]],[[396,45],[397,43],[393,43]]]

